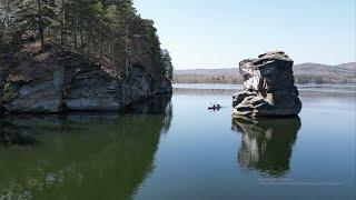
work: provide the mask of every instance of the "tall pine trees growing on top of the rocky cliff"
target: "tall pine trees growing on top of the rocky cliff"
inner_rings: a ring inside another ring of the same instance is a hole
[[[169,52],[160,49],[154,21],[141,19],[132,0],[0,0],[0,56],[33,40],[76,51],[88,59],[106,58],[128,68],[137,41],[145,42],[148,66],[172,78]]]

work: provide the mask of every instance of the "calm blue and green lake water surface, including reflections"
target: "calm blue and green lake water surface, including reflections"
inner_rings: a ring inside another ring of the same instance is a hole
[[[355,199],[355,88],[300,88],[298,118],[255,120],[231,118],[239,89],[180,84],[129,114],[6,117],[0,199]]]

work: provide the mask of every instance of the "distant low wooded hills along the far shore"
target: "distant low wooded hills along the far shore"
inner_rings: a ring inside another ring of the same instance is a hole
[[[356,84],[356,62],[293,67],[297,84]],[[175,70],[175,83],[243,83],[238,68]]]

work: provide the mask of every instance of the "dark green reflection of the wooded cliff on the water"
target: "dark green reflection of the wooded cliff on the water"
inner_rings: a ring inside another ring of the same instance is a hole
[[[170,126],[170,98],[156,106],[119,116],[1,119],[1,143],[29,148],[0,150],[0,199],[132,198],[155,169],[160,134]]]

